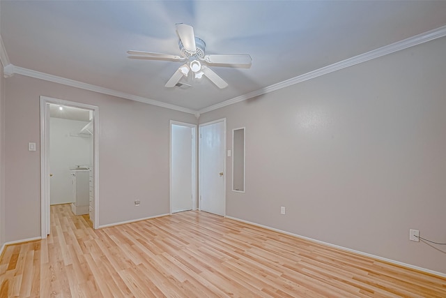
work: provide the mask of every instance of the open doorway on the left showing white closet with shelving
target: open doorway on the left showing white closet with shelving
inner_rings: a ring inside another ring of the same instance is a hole
[[[70,204],[98,226],[98,107],[40,97],[42,237],[50,233],[50,206]]]

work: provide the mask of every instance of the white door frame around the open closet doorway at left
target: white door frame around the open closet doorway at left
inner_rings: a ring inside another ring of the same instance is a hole
[[[93,179],[95,195],[95,220],[93,228],[99,226],[99,107],[74,101],[40,96],[40,232],[42,239],[50,232],[49,206],[49,110],[47,104],[66,105],[93,110]]]

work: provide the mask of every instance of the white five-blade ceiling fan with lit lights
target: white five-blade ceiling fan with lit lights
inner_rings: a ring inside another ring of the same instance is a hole
[[[251,64],[252,59],[248,54],[205,54],[206,43],[194,35],[194,28],[190,25],[176,24],[176,31],[180,37],[178,43],[180,47],[179,56],[134,50],[127,52],[133,55],[129,57],[131,59],[185,61],[185,64],[176,70],[164,87],[175,87],[182,77],[187,77],[192,72],[191,76],[193,78],[199,79],[204,75],[222,89],[227,87],[228,84],[206,65],[249,66]]]

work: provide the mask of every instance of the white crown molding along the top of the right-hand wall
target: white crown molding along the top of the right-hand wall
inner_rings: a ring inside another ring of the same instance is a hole
[[[238,96],[236,98],[231,98],[231,99],[226,100],[222,103],[217,103],[216,105],[211,105],[210,107],[205,107],[204,109],[199,110],[199,114],[217,110],[217,109],[220,109],[221,107],[226,107],[227,105],[233,105],[234,103],[240,103],[243,100],[247,100],[247,99],[253,98],[255,96],[260,96],[262,94],[267,94],[272,91],[283,89],[283,88],[289,87],[291,85],[298,84],[300,82],[305,82],[307,80],[314,79],[314,77],[320,77],[321,75],[326,75],[328,73],[332,73],[334,71],[341,70],[341,69],[347,68],[349,66],[360,64],[362,62],[369,61],[371,59],[383,57],[387,54],[392,54],[394,52],[398,52],[398,51],[407,49],[408,47],[413,47],[415,45],[427,43],[428,41],[435,40],[437,38],[441,38],[444,36],[446,36],[446,26],[438,27],[437,29],[433,29],[431,31],[426,31],[426,32],[418,34],[416,36],[412,36],[410,38],[406,38],[406,39],[397,41],[396,43],[391,43],[390,45],[385,45],[384,47],[379,47],[376,50],[371,50],[370,52],[366,52],[364,54],[359,54],[355,57],[351,57],[351,58],[345,59],[343,61],[339,61],[335,64],[331,64],[329,66],[324,66],[323,68],[312,70],[309,73],[305,73],[303,75],[298,75],[297,77],[293,77],[289,80],[285,80],[285,81],[279,82],[277,84],[272,84],[268,87],[249,92],[247,94]]]

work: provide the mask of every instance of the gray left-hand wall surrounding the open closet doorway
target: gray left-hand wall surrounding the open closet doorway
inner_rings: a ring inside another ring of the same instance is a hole
[[[169,213],[169,121],[197,124],[194,115],[14,75],[6,79],[6,241],[40,236],[41,95],[99,107],[100,225]]]

